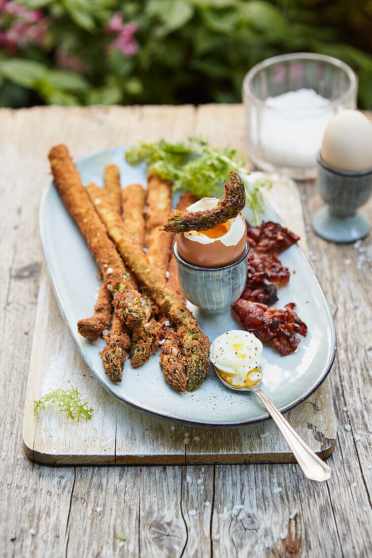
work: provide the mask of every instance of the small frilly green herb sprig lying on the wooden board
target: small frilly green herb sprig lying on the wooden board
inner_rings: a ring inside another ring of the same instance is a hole
[[[64,389],[53,389],[50,390],[50,393],[43,395],[40,397],[39,400],[34,401],[34,413],[36,420],[39,421],[39,410],[40,408],[44,410],[45,403],[51,402],[58,402],[58,406],[61,412],[65,412],[70,419],[78,419],[84,418],[86,421],[92,418],[93,408],[88,408],[87,401],[82,402],[81,395],[78,392],[77,388],[71,387],[64,391]]]

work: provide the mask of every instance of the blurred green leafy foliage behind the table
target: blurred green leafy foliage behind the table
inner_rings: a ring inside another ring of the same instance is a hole
[[[247,70],[269,56],[336,56],[359,75],[372,107],[371,0],[23,0],[47,16],[45,44],[0,48],[0,105],[206,103],[241,100]],[[109,49],[120,11],[139,26],[139,50]],[[59,69],[58,49],[83,70]]]

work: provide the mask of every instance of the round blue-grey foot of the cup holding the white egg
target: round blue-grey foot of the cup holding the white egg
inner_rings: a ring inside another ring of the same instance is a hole
[[[337,217],[326,206],[314,213],[312,227],[314,232],[325,240],[350,243],[365,238],[371,230],[371,223],[360,213],[350,217]]]

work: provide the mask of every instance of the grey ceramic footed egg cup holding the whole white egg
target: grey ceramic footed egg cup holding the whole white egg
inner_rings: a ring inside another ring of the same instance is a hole
[[[319,209],[312,226],[319,237],[332,242],[355,242],[371,230],[369,220],[356,210],[364,205],[372,193],[372,169],[346,172],[326,165],[317,156],[318,187],[327,206]]]

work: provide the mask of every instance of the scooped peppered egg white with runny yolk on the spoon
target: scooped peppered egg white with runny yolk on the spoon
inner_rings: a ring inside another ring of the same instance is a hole
[[[214,339],[209,358],[218,374],[233,387],[253,387],[262,379],[263,344],[248,331],[232,330]]]

